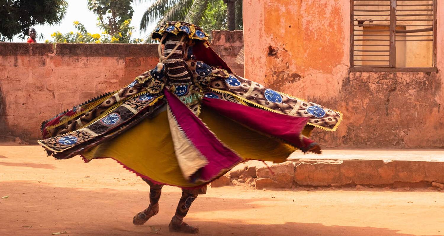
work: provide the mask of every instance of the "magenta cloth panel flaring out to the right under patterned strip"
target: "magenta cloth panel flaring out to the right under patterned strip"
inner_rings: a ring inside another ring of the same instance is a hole
[[[206,97],[203,105],[258,132],[283,139],[298,148],[305,147],[300,134],[308,117],[289,116]]]

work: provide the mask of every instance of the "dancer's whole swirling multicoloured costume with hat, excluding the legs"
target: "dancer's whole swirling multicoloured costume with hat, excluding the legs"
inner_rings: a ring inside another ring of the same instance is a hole
[[[332,109],[235,75],[197,26],[169,22],[152,38],[160,41],[153,70],[42,124],[39,143],[49,155],[113,158],[150,186],[193,189],[246,160],[283,162],[296,149],[320,153],[311,130],[334,131],[342,120]]]

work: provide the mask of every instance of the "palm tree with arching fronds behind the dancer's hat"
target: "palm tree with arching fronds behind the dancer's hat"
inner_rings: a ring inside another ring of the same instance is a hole
[[[147,30],[147,26],[153,23],[159,26],[174,20],[198,24],[206,31],[212,29],[242,29],[242,16],[235,16],[242,13],[242,3],[238,4],[242,0],[228,0],[228,2],[225,2],[226,0],[156,0],[143,13],[140,30]],[[228,3],[232,4],[234,8]],[[228,11],[227,6],[231,8],[231,12]],[[222,13],[225,15],[222,15]],[[231,20],[231,18],[234,20]],[[215,19],[217,19],[217,22]],[[231,20],[231,23],[228,19]]]

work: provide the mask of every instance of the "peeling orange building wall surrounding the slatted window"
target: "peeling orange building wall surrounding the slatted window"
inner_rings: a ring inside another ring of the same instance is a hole
[[[349,4],[245,0],[245,76],[343,112],[337,132],[314,133],[327,147],[444,147],[444,75],[350,73]],[[437,31],[444,70],[443,17]]]

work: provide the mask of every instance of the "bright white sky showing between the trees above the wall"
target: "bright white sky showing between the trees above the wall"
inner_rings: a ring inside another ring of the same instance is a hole
[[[133,31],[132,38],[145,38],[145,36],[149,33],[151,33],[152,30],[154,30],[155,25],[148,26],[148,31],[146,32],[140,32],[139,33],[139,25],[140,25],[140,19],[142,19],[143,12],[152,4],[154,0],[146,0],[139,2],[139,0],[135,0],[132,4],[132,7],[134,9],[133,18],[131,20],[131,26],[135,27],[135,30]],[[44,39],[41,40],[37,37],[38,43],[44,43],[46,39],[52,40],[51,34],[60,31],[62,34],[65,34],[70,31],[76,31],[74,25],[72,24],[74,21],[78,20],[79,22],[83,23],[87,29],[88,32],[94,34],[94,33],[100,33],[102,32],[99,27],[96,26],[97,23],[97,16],[94,15],[94,13],[90,12],[88,10],[87,6],[87,0],[68,0],[69,6],[66,11],[65,18],[63,18],[62,22],[59,25],[36,25],[34,28],[37,31],[37,35],[43,34]],[[26,38],[28,39],[28,37]],[[12,39],[12,42],[15,43],[21,43],[26,42],[25,40],[22,40],[16,35],[14,39]]]

